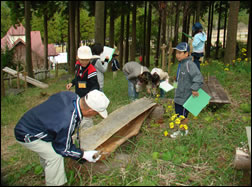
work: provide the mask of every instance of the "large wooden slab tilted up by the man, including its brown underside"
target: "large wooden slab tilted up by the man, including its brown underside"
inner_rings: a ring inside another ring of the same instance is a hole
[[[135,133],[130,134],[129,132],[129,129],[134,130],[133,126],[135,124],[138,124],[138,126],[135,128],[140,129],[139,124],[143,122],[145,117],[147,117],[149,114],[148,111],[150,111],[151,108],[154,107],[155,105],[156,103],[153,103],[151,99],[141,98],[115,110],[99,124],[94,125],[93,127],[90,127],[84,131],[80,131],[81,148],[84,150],[94,150],[103,143],[105,143],[107,140],[109,140],[112,136],[120,137],[121,140],[120,141],[116,140],[117,143],[115,144],[117,145],[121,144],[122,142],[124,142],[126,139],[129,138],[126,135],[133,136],[135,134]],[[127,133],[125,134],[122,132]],[[112,147],[115,148],[117,146]]]

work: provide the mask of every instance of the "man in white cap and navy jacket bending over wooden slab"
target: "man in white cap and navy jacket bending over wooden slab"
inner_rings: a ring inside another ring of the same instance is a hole
[[[16,124],[16,140],[26,148],[38,153],[45,171],[46,185],[63,185],[67,182],[64,157],[75,160],[94,159],[98,151],[84,151],[73,144],[72,135],[77,132],[81,119],[100,114],[108,116],[109,99],[103,92],[92,90],[79,97],[70,91],[62,91],[27,111]],[[79,145],[80,146],[80,145]]]

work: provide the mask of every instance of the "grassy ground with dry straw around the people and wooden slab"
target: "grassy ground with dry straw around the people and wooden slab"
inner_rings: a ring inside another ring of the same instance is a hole
[[[171,76],[176,74],[176,67],[177,64],[172,66]],[[209,105],[197,118],[189,114],[187,136],[177,139],[164,136],[164,131],[169,130],[166,118],[161,125],[146,120],[140,133],[117,148],[106,162],[79,164],[66,158],[66,185],[251,184],[250,172],[236,170],[232,165],[235,148],[247,143],[245,127],[251,126],[251,63],[244,61],[236,67],[225,67],[212,61],[201,68],[205,77],[208,73],[216,75],[231,104]],[[229,69],[224,71],[224,68]],[[1,99],[1,181],[5,184],[44,185],[38,156],[16,143],[13,129],[27,110],[65,90],[68,81],[67,74],[61,72],[58,78],[45,81],[49,84],[47,89],[29,87],[18,96]],[[106,72],[104,92],[111,101],[109,113],[129,103],[127,81],[122,72],[118,72],[115,80],[112,72]],[[174,90],[166,95],[170,99],[173,96]],[[95,118],[96,123],[100,120]],[[115,162],[116,159],[121,162]]]

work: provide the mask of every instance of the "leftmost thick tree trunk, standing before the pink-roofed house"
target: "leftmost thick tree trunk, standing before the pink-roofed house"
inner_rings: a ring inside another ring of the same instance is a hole
[[[25,60],[28,76],[34,78],[31,56],[31,1],[25,1]]]

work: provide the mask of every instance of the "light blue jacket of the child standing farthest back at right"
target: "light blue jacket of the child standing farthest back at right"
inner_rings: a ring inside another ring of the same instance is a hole
[[[206,33],[199,32],[193,37],[193,51],[194,53],[204,53],[205,42],[207,40]]]

